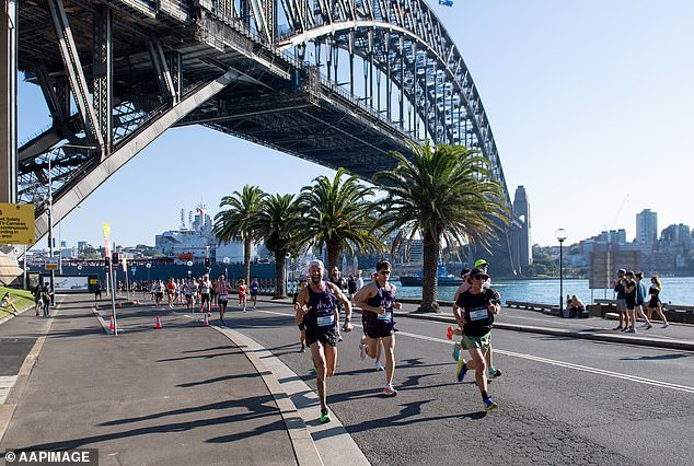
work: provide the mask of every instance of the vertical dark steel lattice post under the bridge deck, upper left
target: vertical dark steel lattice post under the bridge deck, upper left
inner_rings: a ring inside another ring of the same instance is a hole
[[[113,15],[102,4],[94,10],[94,110],[104,140],[102,156],[113,149]]]

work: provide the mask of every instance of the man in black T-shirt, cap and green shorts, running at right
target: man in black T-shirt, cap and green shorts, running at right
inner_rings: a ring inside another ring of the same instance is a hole
[[[487,362],[485,352],[491,347],[491,326],[494,316],[499,313],[499,293],[490,288],[483,288],[489,276],[482,269],[473,268],[467,276],[470,290],[462,293],[453,305],[461,311],[463,319],[463,349],[470,352],[471,360],[460,358],[456,378],[463,382],[469,370],[475,371],[477,388],[482,394],[484,408],[489,411],[498,407],[487,393]]]

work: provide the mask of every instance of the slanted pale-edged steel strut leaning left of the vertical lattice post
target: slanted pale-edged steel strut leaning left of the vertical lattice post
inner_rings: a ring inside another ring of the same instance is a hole
[[[74,96],[74,103],[82,116],[84,123],[84,129],[90,141],[96,143],[101,153],[104,153],[104,140],[99,131],[99,123],[96,119],[96,113],[90,101],[89,86],[86,85],[86,79],[80,61],[80,56],[77,53],[77,46],[74,45],[74,38],[72,37],[72,30],[68,22],[68,16],[65,12],[62,0],[47,0],[50,9],[50,16],[53,19],[53,25],[58,38],[58,46],[60,49],[60,56],[62,63],[66,68],[68,79],[70,81],[70,89]]]

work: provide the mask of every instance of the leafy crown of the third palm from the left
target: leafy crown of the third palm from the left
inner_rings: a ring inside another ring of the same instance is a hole
[[[347,176],[345,178],[345,176]],[[328,270],[338,265],[339,253],[383,251],[375,234],[373,190],[355,175],[339,168],[333,179],[321,175],[313,186],[304,186],[299,196],[303,217],[298,240],[326,248]]]

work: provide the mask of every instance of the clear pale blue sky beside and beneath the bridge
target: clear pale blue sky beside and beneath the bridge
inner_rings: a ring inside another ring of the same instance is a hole
[[[432,8],[482,95],[508,188],[523,185],[533,243],[605,229],[635,236],[636,213],[694,226],[694,2],[455,0]],[[48,124],[38,88],[20,86],[20,142]],[[180,212],[248,183],[298,193],[332,172],[203,128],[170,130],[61,223],[69,246],[153,244]],[[289,175],[288,175],[289,174]],[[56,233],[57,234],[57,233]],[[39,247],[45,241],[39,243]]]

